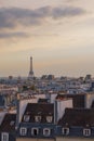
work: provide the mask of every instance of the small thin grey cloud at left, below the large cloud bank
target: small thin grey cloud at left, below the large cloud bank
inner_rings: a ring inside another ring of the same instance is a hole
[[[28,36],[26,33],[0,33],[0,39],[26,38]]]

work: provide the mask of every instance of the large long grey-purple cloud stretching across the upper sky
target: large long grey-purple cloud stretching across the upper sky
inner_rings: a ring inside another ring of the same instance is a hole
[[[40,9],[28,10],[19,8],[0,9],[0,29],[13,29],[17,26],[42,25],[45,18],[57,21],[58,18],[72,17],[84,14],[81,8],[64,7],[52,8],[43,7]]]

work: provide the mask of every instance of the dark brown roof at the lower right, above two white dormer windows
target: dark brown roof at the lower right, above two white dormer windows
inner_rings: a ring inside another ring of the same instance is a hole
[[[66,108],[58,125],[62,126],[80,126],[80,127],[94,127],[94,110],[89,108]]]

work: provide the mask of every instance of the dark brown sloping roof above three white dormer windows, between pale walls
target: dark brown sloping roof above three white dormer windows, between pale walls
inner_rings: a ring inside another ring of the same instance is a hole
[[[54,104],[51,103],[28,103],[24,115],[29,115],[29,123],[35,123],[35,116],[41,116],[40,123],[46,121],[46,116],[53,116],[54,120]],[[24,116],[23,116],[24,121]]]

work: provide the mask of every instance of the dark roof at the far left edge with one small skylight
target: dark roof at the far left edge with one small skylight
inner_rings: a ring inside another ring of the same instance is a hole
[[[16,114],[5,114],[1,125],[0,131],[15,131]]]

